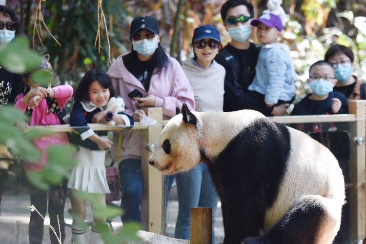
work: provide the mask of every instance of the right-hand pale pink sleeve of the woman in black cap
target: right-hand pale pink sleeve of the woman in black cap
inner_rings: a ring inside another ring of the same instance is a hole
[[[171,59],[171,72],[173,89],[168,97],[156,97],[155,107],[163,107],[163,115],[167,117],[175,116],[176,107],[182,108],[183,103],[186,103],[190,110],[196,107],[192,86],[186,77],[181,65],[175,59]]]

